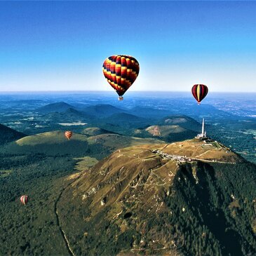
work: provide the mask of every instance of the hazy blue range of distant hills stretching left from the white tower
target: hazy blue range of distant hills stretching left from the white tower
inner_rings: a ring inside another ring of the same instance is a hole
[[[170,116],[170,112],[164,109],[152,109],[146,107],[135,107],[133,109],[121,109],[112,105],[94,105],[83,109],[76,109],[65,102],[57,102],[37,109],[43,116],[53,121],[81,121],[85,119],[97,119],[93,123],[110,123],[116,126],[143,127],[150,124],[179,125],[189,130],[200,129],[200,124],[188,116]],[[58,114],[59,113],[59,114]],[[169,117],[168,117],[169,116]],[[156,123],[157,121],[157,123]]]

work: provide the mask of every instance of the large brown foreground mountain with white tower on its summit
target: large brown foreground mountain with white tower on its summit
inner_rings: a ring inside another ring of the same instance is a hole
[[[119,149],[76,175],[60,222],[75,255],[255,255],[255,170],[218,142]]]

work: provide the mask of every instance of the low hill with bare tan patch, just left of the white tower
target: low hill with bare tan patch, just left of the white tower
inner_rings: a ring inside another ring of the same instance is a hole
[[[194,130],[188,130],[181,126],[149,126],[144,129],[135,129],[134,135],[138,137],[158,137],[166,142],[192,139],[196,136]]]

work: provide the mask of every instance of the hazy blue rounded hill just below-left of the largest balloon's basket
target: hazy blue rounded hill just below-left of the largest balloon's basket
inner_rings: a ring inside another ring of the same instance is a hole
[[[95,106],[86,107],[83,109],[84,112],[97,117],[107,117],[111,116],[112,114],[125,112],[124,109],[119,109],[118,107],[114,107],[112,105],[107,104],[99,104]]]

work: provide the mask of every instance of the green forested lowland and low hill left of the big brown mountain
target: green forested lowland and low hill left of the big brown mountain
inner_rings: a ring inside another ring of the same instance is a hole
[[[0,255],[68,255],[55,215],[60,194],[81,171],[114,150],[160,142],[98,136],[74,134],[67,140],[61,131],[53,131],[0,148]],[[20,203],[23,194],[29,196],[27,206]]]

